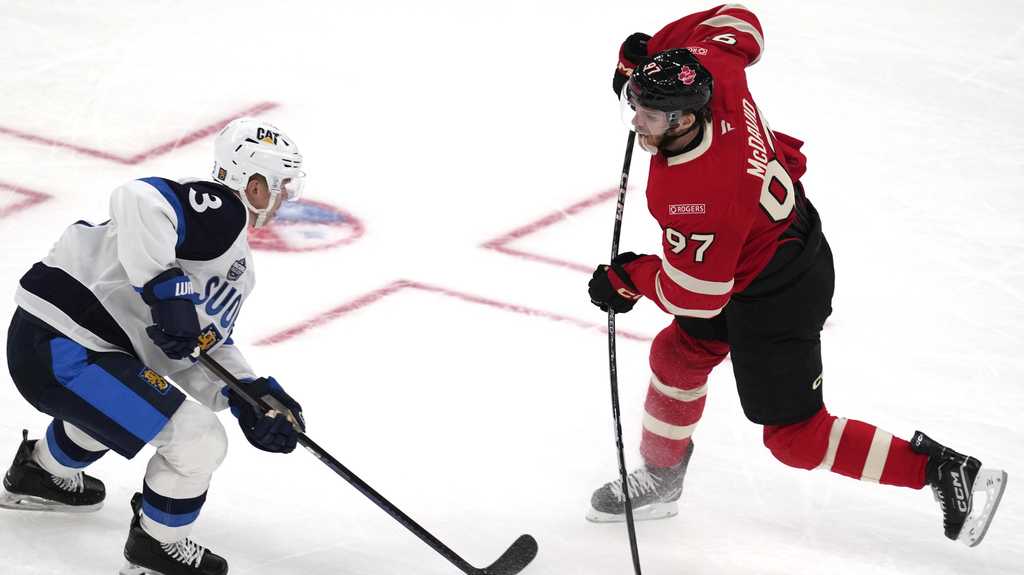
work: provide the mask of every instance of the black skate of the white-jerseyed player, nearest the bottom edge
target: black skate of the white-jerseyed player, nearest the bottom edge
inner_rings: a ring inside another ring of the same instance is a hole
[[[174,543],[161,543],[146,533],[140,524],[142,494],[131,498],[131,529],[125,542],[127,565],[121,575],[224,575],[224,558],[197,544],[187,537]]]

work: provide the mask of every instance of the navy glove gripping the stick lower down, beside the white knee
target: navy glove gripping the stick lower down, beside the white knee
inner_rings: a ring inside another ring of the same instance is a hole
[[[246,392],[252,397],[262,399],[273,408],[273,414],[261,413],[258,409],[242,399],[230,388],[224,387],[221,393],[227,396],[227,405],[231,413],[239,418],[242,433],[253,444],[253,447],[271,453],[291,453],[299,438],[300,431],[306,431],[306,422],[302,418],[302,406],[273,378],[246,380]],[[294,423],[293,423],[294,422]]]

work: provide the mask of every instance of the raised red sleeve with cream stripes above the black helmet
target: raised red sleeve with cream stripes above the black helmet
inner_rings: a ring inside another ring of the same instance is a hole
[[[765,45],[761,23],[754,12],[740,4],[723,4],[666,26],[647,42],[647,52],[655,54],[703,43],[740,57],[743,65],[757,62]],[[700,57],[702,54],[694,55]]]

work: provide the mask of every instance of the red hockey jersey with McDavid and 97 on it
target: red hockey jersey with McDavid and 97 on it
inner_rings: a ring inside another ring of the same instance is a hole
[[[775,254],[794,217],[803,142],[768,128],[744,69],[764,50],[761,24],[726,4],[676,20],[647,43],[653,55],[686,48],[711,73],[712,121],[695,148],[651,159],[647,208],[660,224],[664,258],[626,265],[663,310],[714,317]]]

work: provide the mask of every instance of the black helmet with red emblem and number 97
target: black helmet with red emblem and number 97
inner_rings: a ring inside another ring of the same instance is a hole
[[[711,101],[711,74],[689,50],[673,48],[633,70],[630,102],[662,112],[698,112]]]

